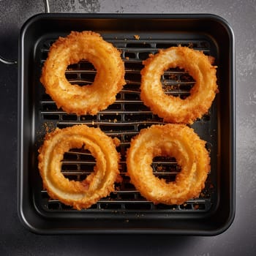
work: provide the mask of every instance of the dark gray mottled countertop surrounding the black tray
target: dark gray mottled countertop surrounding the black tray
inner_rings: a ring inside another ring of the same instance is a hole
[[[157,6],[156,6],[157,5]],[[23,23],[44,12],[41,1],[0,1],[0,55],[18,58]],[[225,233],[194,236],[39,236],[17,215],[18,68],[0,63],[0,255],[255,255],[256,1],[50,1],[51,12],[212,13],[236,41],[236,217]]]

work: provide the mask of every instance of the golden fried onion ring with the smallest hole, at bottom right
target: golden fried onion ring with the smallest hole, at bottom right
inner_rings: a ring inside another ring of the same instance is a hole
[[[184,124],[153,125],[140,130],[127,151],[127,173],[143,197],[153,203],[182,204],[198,197],[210,171],[210,157],[192,128]],[[154,157],[175,157],[181,172],[167,183],[154,176]]]

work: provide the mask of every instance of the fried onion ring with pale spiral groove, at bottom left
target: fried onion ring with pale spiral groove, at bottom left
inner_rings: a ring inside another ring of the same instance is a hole
[[[114,182],[120,181],[120,156],[115,143],[99,128],[86,125],[57,128],[48,133],[38,156],[39,173],[48,195],[80,210],[113,192]],[[61,160],[70,148],[88,149],[96,159],[94,173],[83,181],[70,181],[61,173]]]

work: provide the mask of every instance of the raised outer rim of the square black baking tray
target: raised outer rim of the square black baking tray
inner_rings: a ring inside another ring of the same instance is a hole
[[[230,120],[231,120],[231,127],[230,127],[230,141],[232,145],[230,145],[230,166],[232,167],[232,174],[231,177],[232,180],[230,181],[230,214],[227,218],[227,222],[225,225],[223,225],[218,230],[214,230],[211,232],[207,231],[196,231],[196,235],[200,236],[214,236],[219,233],[224,232],[227,230],[228,227],[233,222],[233,219],[236,214],[236,198],[235,198],[235,192],[236,192],[236,85],[235,85],[235,42],[234,42],[234,34],[233,30],[231,29],[229,23],[224,18],[221,18],[218,15],[214,14],[155,14],[155,13],[143,13],[143,14],[134,14],[134,13],[127,13],[127,14],[109,14],[109,13],[99,13],[99,14],[78,14],[78,13],[50,13],[50,14],[37,14],[29,18],[29,20],[26,20],[26,23],[23,24],[22,29],[20,29],[20,39],[19,39],[19,58],[18,58],[18,217],[20,221],[23,223],[25,227],[27,227],[29,230],[31,230],[34,233],[63,233],[63,230],[38,230],[37,228],[33,227],[29,223],[29,220],[26,217],[25,212],[22,208],[23,203],[23,176],[22,171],[20,171],[21,167],[23,166],[23,159],[21,157],[22,153],[22,146],[23,146],[23,86],[22,85],[22,78],[23,78],[23,69],[24,69],[24,62],[23,62],[23,47],[24,47],[24,39],[26,36],[26,30],[29,28],[31,23],[34,23],[36,20],[40,20],[41,18],[46,19],[52,19],[52,18],[72,18],[72,19],[79,19],[79,18],[86,18],[86,19],[122,19],[122,18],[129,18],[129,19],[159,19],[159,20],[191,20],[191,19],[209,19],[214,20],[218,23],[222,23],[222,26],[225,26],[225,29],[227,30],[227,34],[230,37],[230,70],[231,76],[230,76],[230,83],[232,87],[232,95],[230,95],[230,102],[231,104],[230,108]],[[65,230],[64,233],[168,233],[168,234],[194,234],[195,232],[188,232],[188,230],[184,233],[181,230],[156,230],[156,229],[139,229],[139,230],[110,230],[110,229],[97,229],[97,230]]]

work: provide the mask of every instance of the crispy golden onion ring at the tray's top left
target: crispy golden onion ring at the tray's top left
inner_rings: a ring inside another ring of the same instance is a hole
[[[58,108],[67,113],[94,115],[108,108],[116,100],[124,81],[124,62],[120,52],[92,31],[72,31],[59,37],[50,47],[48,59],[42,67],[41,83]],[[70,64],[90,61],[97,74],[91,85],[71,85],[65,77]]]

